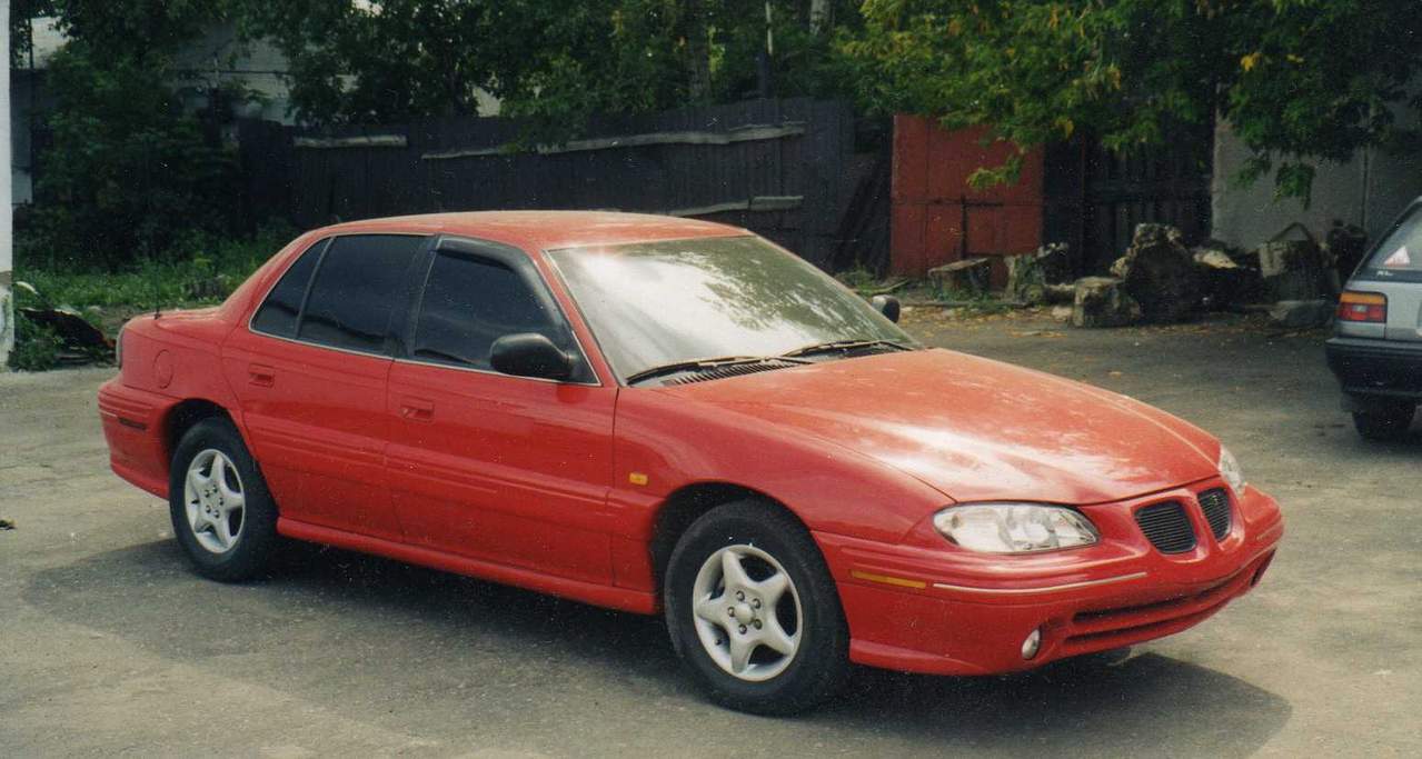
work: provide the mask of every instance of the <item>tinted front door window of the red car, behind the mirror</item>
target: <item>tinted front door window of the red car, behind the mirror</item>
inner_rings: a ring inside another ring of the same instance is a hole
[[[566,348],[562,331],[512,269],[486,259],[435,256],[415,324],[417,358],[488,368],[493,341],[516,333],[539,333]]]

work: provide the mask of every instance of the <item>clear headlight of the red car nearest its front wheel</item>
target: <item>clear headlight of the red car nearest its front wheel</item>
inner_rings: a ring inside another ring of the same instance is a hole
[[[1045,551],[1096,542],[1096,527],[1085,516],[1041,503],[948,506],[933,517],[933,526],[953,543],[983,553]]]

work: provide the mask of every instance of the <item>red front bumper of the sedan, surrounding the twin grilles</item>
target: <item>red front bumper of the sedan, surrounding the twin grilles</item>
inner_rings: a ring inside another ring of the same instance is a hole
[[[1183,631],[1253,588],[1284,533],[1278,505],[1246,488],[1220,540],[1196,506],[1219,480],[1121,503],[1086,506],[1102,532],[1088,549],[995,556],[815,537],[839,586],[850,658],[909,672],[984,675],[1133,645]],[[1139,507],[1177,500],[1199,544],[1162,554],[1135,524]],[[1042,631],[1038,652],[1022,641]]]

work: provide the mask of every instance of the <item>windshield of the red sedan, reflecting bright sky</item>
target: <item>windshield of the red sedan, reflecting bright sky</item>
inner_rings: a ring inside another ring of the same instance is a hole
[[[913,341],[862,297],[754,236],[549,253],[623,378],[728,355],[838,340]]]

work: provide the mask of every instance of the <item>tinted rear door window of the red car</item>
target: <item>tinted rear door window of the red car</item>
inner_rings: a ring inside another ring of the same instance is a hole
[[[411,257],[422,237],[336,237],[311,283],[299,337],[354,351],[381,352],[391,310],[404,300]]]

